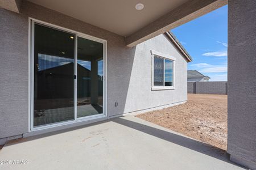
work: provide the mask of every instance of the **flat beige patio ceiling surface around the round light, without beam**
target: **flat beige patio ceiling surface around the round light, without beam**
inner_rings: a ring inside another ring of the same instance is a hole
[[[83,22],[129,36],[188,0],[29,0]],[[143,3],[141,11],[135,9]]]

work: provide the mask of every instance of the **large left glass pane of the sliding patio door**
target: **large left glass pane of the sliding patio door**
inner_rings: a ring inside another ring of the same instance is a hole
[[[34,126],[74,119],[75,35],[35,24]]]

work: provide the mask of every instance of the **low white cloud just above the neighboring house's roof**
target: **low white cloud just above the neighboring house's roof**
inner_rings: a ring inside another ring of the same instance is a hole
[[[224,73],[228,71],[226,64],[210,65],[208,63],[196,63],[190,66],[192,69],[198,70],[200,73]]]

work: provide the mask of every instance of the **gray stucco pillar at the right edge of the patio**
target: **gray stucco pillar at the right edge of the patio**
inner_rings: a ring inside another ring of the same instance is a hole
[[[228,3],[228,153],[256,169],[256,1]]]

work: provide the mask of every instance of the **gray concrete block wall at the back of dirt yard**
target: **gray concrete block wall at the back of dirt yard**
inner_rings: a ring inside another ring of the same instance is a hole
[[[189,94],[228,94],[228,82],[188,82]]]

